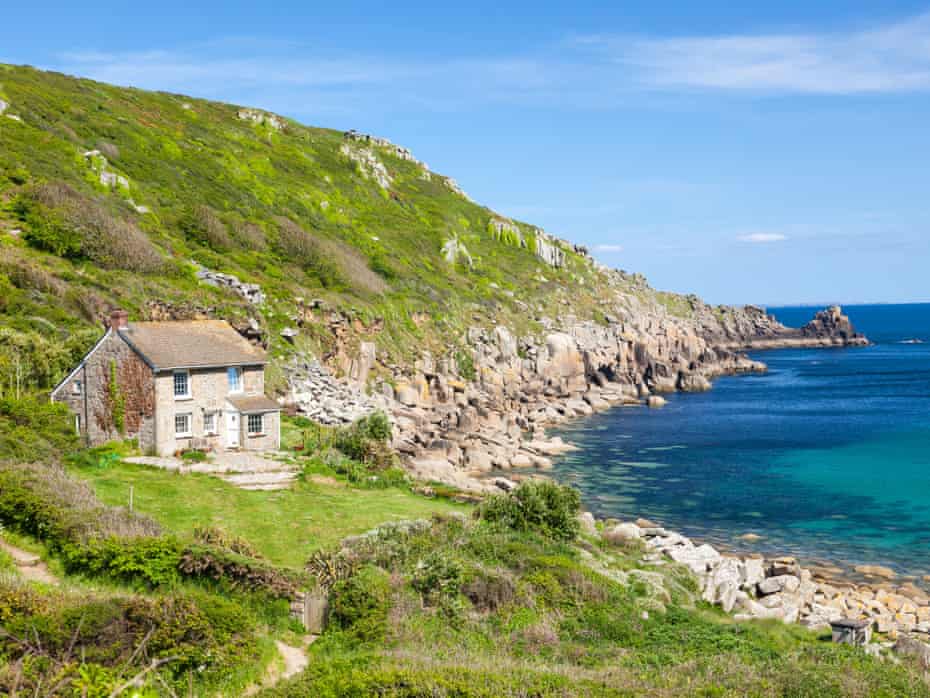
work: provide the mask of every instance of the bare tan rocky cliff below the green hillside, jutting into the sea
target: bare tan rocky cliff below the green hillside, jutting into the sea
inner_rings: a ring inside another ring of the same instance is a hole
[[[393,366],[371,408],[393,414],[394,446],[411,471],[466,490],[507,487],[489,476],[545,470],[551,456],[571,448],[546,437],[549,425],[615,405],[661,407],[662,393],[764,371],[742,348],[867,343],[836,307],[792,329],[760,308],[711,308],[697,299],[690,315],[676,316],[656,296],[620,283],[604,301],[603,322],[541,317],[544,331],[522,336],[504,325],[472,327],[464,356],[424,352],[414,365]],[[307,409],[318,415],[320,404]]]

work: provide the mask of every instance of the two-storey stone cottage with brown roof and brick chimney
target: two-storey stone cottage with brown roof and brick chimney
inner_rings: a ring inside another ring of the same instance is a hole
[[[281,408],[265,396],[265,352],[222,320],[129,322],[106,333],[52,391],[88,445],[136,439],[140,449],[273,450]]]

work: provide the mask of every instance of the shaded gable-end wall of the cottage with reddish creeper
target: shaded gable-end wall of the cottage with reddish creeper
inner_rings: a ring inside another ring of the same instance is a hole
[[[110,388],[114,374],[115,393]],[[58,387],[52,399],[71,409],[75,428],[88,445],[128,438],[136,439],[139,448],[147,451],[155,443],[153,395],[151,369],[129,345],[110,333],[84,365]]]

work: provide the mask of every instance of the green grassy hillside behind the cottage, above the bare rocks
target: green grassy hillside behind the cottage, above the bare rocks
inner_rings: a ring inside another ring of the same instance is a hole
[[[566,245],[563,268],[544,264],[534,227],[496,229],[492,211],[394,148],[25,67],[0,66],[0,100],[0,324],[20,347],[0,352],[3,385],[19,371],[47,387],[107,307],[138,316],[148,301],[255,317],[278,355],[298,298],[353,315],[353,333],[393,359],[445,350],[492,318],[603,318],[589,260]],[[195,263],[260,284],[268,302],[199,282]],[[326,318],[302,320],[298,347],[331,350]]]

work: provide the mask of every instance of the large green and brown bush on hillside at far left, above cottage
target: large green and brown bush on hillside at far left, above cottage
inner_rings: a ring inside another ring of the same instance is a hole
[[[32,187],[17,199],[33,246],[69,259],[89,259],[107,269],[157,272],[164,259],[135,224],[68,184]]]

